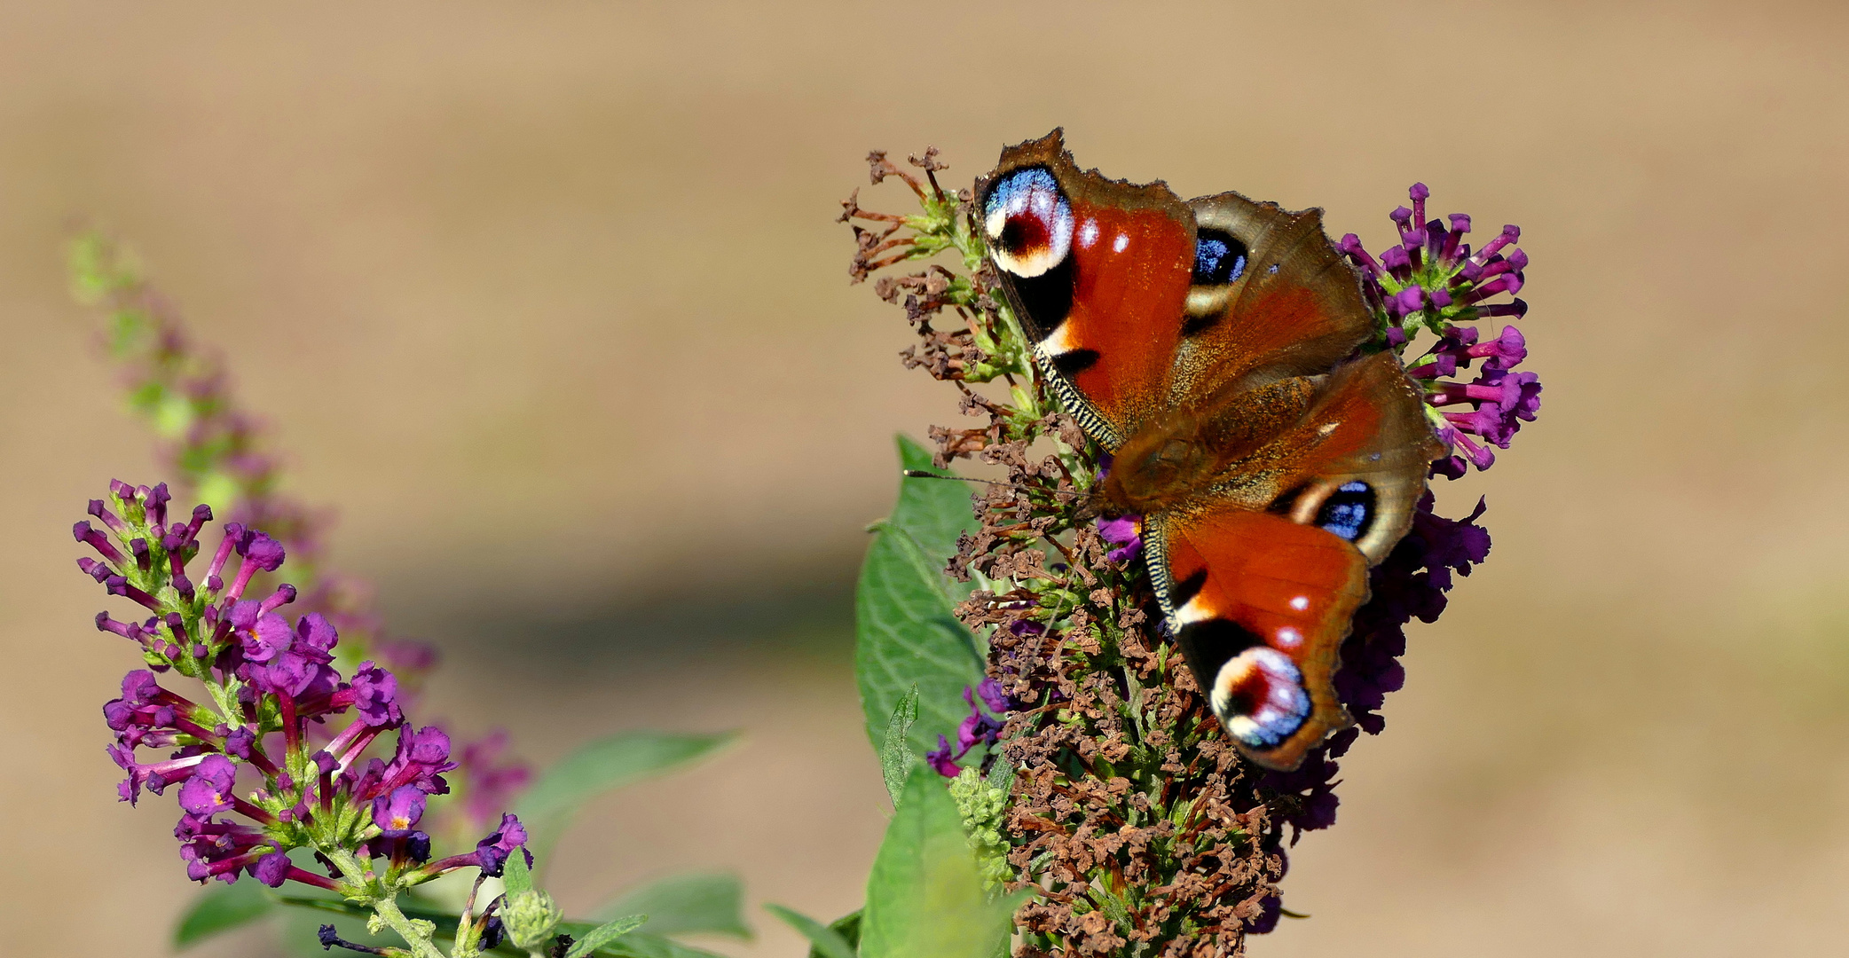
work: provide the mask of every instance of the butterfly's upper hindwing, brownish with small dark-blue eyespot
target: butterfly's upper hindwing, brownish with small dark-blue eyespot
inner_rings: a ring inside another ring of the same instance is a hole
[[[1237,192],[1189,207],[1198,255],[1176,401],[1329,372],[1374,333],[1361,281],[1324,235],[1320,209],[1291,213]]]

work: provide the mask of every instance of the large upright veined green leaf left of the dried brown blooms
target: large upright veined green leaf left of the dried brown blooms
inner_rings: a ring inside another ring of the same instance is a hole
[[[904,436],[899,461],[908,470],[930,468],[930,453]],[[878,523],[854,590],[854,677],[875,749],[913,686],[917,721],[906,745],[915,755],[936,749],[937,736],[954,734],[969,714],[963,688],[982,681],[982,651],[952,610],[971,586],[952,583],[943,568],[958,534],[973,527],[969,490],[941,479],[900,479],[899,503]]]

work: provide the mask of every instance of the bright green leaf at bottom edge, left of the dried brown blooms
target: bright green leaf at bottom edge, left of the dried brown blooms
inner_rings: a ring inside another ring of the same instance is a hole
[[[989,901],[943,779],[915,768],[867,878],[860,954],[995,958],[1013,906],[1013,899]]]

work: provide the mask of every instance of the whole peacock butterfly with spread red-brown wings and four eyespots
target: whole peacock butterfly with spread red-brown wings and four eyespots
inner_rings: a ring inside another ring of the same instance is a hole
[[[1444,455],[1359,276],[1237,192],[1080,170],[1061,131],[978,187],[989,259],[1054,392],[1113,455],[1089,512],[1141,516],[1156,599],[1239,749],[1294,769],[1352,723],[1342,638]]]

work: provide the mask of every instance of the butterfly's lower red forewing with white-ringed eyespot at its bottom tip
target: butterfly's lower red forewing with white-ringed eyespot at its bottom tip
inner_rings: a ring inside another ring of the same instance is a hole
[[[1176,644],[1246,756],[1294,769],[1350,725],[1335,668],[1368,597],[1361,551],[1315,525],[1220,509],[1161,518],[1150,573]]]

